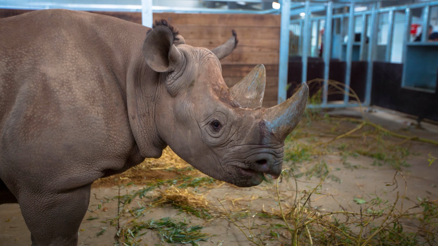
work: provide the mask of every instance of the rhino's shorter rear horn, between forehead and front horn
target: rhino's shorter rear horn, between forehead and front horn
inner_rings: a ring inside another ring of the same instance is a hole
[[[258,64],[246,77],[230,88],[231,98],[242,108],[261,108],[265,84],[265,66]]]

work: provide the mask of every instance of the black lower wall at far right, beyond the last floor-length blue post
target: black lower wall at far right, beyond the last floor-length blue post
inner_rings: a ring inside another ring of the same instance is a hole
[[[402,74],[403,64],[374,62],[371,104],[438,120],[438,85],[435,93],[405,89]]]

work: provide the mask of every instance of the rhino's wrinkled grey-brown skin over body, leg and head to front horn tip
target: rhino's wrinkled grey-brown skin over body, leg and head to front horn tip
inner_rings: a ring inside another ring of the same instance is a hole
[[[147,31],[65,10],[0,20],[0,204],[20,204],[32,245],[77,245],[91,183],[167,145],[237,186],[279,176],[307,86],[263,109],[223,81],[230,42],[212,52],[166,26]]]

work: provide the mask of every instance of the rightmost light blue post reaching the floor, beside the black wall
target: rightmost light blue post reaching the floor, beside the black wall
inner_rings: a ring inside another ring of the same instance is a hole
[[[371,88],[373,82],[373,61],[375,56],[374,47],[377,46],[377,33],[378,33],[378,18],[377,18],[377,4],[373,3],[371,7],[371,23],[370,27],[373,28],[370,32],[370,42],[368,43],[368,64],[367,64],[367,84],[365,86],[365,105],[371,104]]]

